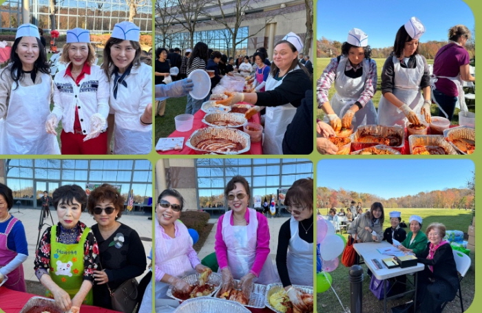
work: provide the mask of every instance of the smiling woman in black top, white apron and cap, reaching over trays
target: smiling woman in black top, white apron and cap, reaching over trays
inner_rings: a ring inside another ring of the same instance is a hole
[[[305,91],[312,89],[311,74],[299,65],[298,52],[302,49],[300,37],[290,32],[275,45],[265,92],[227,93],[229,98],[216,101],[222,105],[241,101],[255,105],[246,113],[247,118],[261,111],[260,106],[266,107],[263,154],[282,154],[286,127],[301,105]]]

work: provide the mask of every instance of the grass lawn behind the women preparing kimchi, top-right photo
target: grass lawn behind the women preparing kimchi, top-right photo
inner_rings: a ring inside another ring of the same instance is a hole
[[[316,60],[316,68],[315,68],[315,78],[318,79],[319,76],[321,76],[323,70],[325,69],[325,67],[328,65],[328,63],[330,63],[330,60],[331,58],[317,58]],[[375,95],[373,96],[372,100],[373,100],[373,105],[375,105],[376,108],[378,108],[378,102],[380,101],[380,98],[381,98],[381,68],[384,66],[384,63],[385,63],[385,58],[374,58],[373,60],[375,60],[375,62],[377,63],[377,92],[375,92]],[[434,61],[433,60],[427,60],[427,63],[428,64],[433,64]],[[333,94],[335,94],[335,87],[331,87],[330,91],[328,92],[328,98],[331,99],[331,97],[333,96]],[[430,107],[430,111],[432,112],[432,116],[436,116],[437,115],[437,105],[434,105],[432,104],[432,107]],[[459,109],[455,109],[455,112],[454,112],[454,118],[452,119],[452,124],[458,124],[458,120],[459,120]],[[471,112],[475,112],[475,108],[474,107],[471,107],[469,109],[469,111]],[[319,118],[320,120],[322,120],[324,117],[324,111],[322,109],[317,109],[317,118]],[[342,118],[342,116],[340,116],[339,118]]]

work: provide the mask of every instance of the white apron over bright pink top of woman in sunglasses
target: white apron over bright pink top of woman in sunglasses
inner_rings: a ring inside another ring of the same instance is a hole
[[[256,246],[258,243],[258,218],[256,211],[249,210],[249,224],[247,226],[231,225],[233,211],[228,211],[222,219],[222,240],[227,246],[228,267],[234,279],[241,279],[249,273],[256,258]],[[280,281],[275,266],[268,256],[260,272],[256,283],[267,285]]]

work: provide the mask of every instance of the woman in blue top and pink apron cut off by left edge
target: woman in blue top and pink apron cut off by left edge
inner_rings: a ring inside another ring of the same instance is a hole
[[[6,288],[27,292],[22,263],[28,257],[25,228],[8,211],[13,206],[12,189],[0,183],[0,283]]]

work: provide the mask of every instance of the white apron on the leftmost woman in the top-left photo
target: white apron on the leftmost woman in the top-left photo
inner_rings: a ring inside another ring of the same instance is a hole
[[[23,87],[13,83],[5,119],[0,120],[0,154],[60,154],[55,135],[45,131],[50,114],[48,74],[37,73],[42,83]]]

